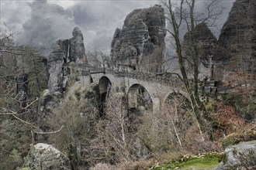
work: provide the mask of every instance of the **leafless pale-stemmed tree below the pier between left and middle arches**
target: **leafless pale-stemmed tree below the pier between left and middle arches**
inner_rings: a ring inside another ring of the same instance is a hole
[[[148,158],[150,151],[137,135],[140,117],[133,116],[127,112],[122,97],[109,98],[106,115],[96,125],[96,136],[88,151],[88,159],[92,164],[116,164]]]

